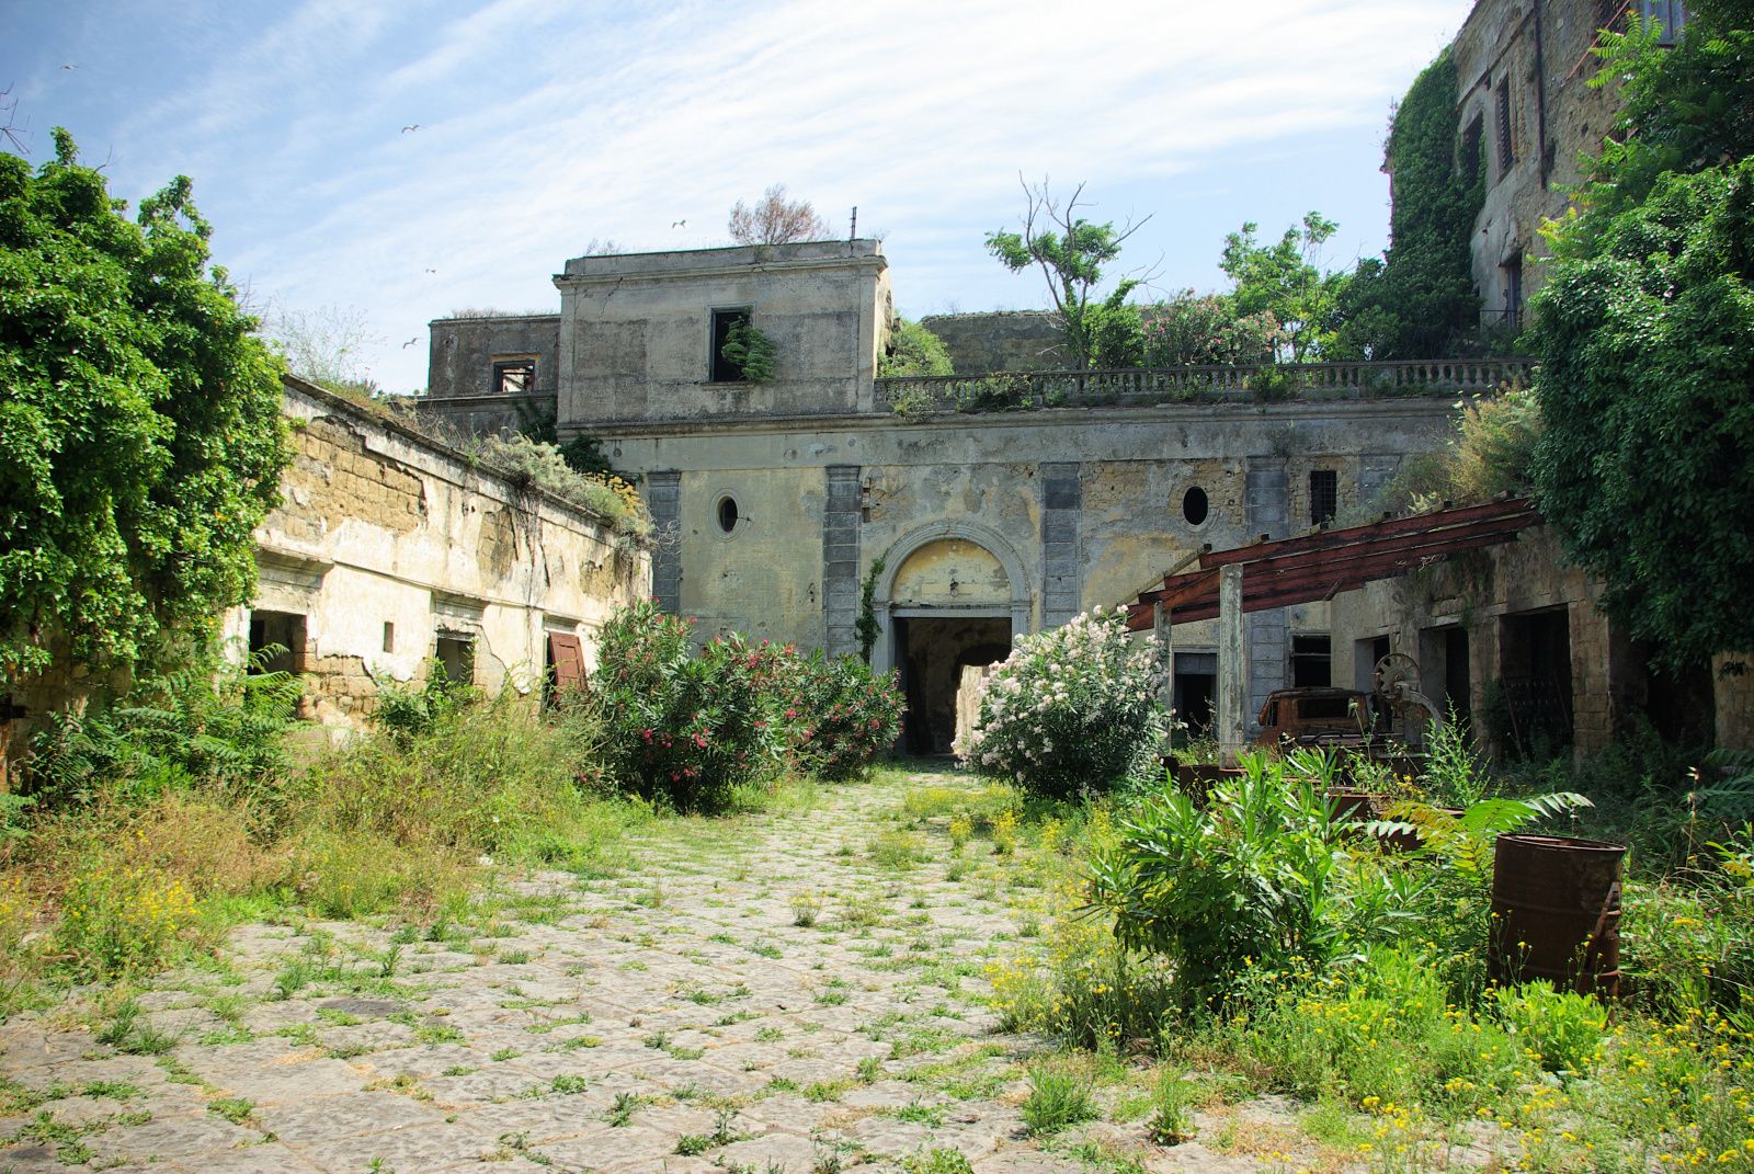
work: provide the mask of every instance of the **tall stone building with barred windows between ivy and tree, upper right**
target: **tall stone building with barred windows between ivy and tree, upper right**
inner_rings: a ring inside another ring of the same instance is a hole
[[[1542,283],[1540,223],[1565,214],[1579,154],[1598,154],[1617,111],[1614,86],[1589,86],[1600,30],[1638,16],[1673,42],[1677,0],[1479,0],[1452,44],[1463,168],[1486,168],[1475,219],[1473,284],[1482,325],[1522,326]]]

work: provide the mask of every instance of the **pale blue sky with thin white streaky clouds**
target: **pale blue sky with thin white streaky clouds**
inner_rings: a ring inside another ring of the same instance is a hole
[[[1468,0],[0,0],[26,158],[67,126],[130,202],[195,181],[268,314],[356,321],[426,384],[426,323],[554,312],[593,242],[728,244],[775,183],[881,237],[896,309],[1033,309],[986,233],[1019,175],[1145,221],[1114,276],[1219,290],[1228,232],[1317,209],[1330,265],[1387,244],[1393,102]],[[1149,219],[1147,219],[1149,218]]]

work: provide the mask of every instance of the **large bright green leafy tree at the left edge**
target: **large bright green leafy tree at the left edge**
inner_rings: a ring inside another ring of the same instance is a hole
[[[281,363],[177,177],[0,156],[0,681],[128,667],[254,583],[288,453]]]

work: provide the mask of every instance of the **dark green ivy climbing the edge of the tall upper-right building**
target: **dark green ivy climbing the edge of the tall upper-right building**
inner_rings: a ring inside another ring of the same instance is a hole
[[[1389,249],[1359,261],[1340,295],[1335,358],[1433,358],[1477,333],[1470,244],[1486,168],[1479,149],[1461,142],[1458,97],[1456,63],[1444,49],[1394,111],[1384,149]]]

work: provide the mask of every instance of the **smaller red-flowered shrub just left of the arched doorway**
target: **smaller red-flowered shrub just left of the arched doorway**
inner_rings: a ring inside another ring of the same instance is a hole
[[[796,723],[793,762],[821,779],[852,779],[902,728],[902,688],[896,676],[875,676],[858,656],[826,660],[819,651],[802,662],[788,705]]]

